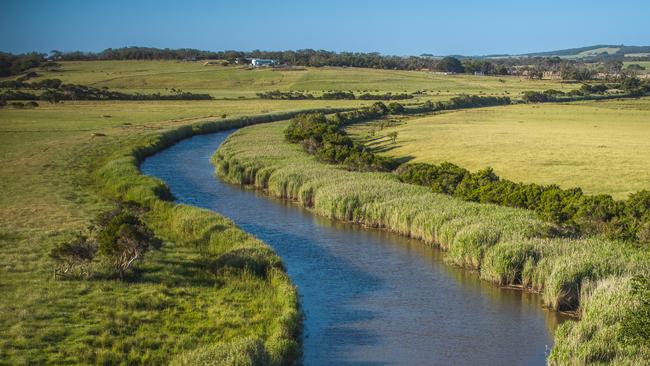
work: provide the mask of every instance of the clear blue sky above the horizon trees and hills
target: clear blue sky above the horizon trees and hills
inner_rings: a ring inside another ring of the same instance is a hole
[[[393,55],[650,45],[650,0],[0,0],[0,50],[326,49]]]

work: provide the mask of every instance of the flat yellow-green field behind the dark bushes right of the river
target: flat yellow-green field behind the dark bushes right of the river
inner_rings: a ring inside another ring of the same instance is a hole
[[[621,199],[650,189],[650,98],[469,109],[405,119],[369,138],[372,126],[350,131],[412,162],[489,166],[513,181]]]

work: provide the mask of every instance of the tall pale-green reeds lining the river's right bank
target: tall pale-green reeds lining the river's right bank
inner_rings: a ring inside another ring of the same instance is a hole
[[[551,364],[650,359],[640,337],[624,331],[650,326],[647,317],[636,316],[645,302],[644,295],[635,295],[643,291],[633,281],[650,275],[646,249],[599,236],[557,238],[555,226],[529,210],[467,202],[400,182],[391,173],[319,162],[285,140],[287,126],[235,132],[213,157],[219,176],[323,216],[421,239],[485,280],[540,292],[545,305],[581,318],[558,329]]]

